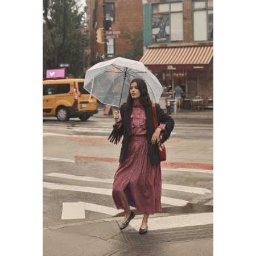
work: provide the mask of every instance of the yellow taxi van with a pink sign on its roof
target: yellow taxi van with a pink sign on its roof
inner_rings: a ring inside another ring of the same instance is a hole
[[[79,117],[87,120],[98,113],[97,99],[84,89],[84,79],[43,80],[43,116],[59,121]]]

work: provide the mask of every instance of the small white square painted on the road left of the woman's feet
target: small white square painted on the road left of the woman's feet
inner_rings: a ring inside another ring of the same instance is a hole
[[[84,202],[63,203],[61,220],[73,220],[77,218],[85,218]]]

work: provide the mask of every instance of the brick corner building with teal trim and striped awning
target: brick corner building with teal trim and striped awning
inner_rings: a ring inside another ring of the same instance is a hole
[[[213,98],[213,0],[143,1],[143,46],[166,92]]]

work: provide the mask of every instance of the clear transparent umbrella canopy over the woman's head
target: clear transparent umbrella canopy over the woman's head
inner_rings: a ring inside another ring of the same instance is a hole
[[[84,88],[102,104],[117,106],[126,102],[131,80],[143,79],[152,101],[158,102],[163,87],[143,63],[122,57],[93,65],[85,74]]]

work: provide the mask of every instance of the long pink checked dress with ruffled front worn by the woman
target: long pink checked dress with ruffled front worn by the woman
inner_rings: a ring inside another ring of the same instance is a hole
[[[164,130],[165,125],[159,127]],[[117,209],[125,209],[122,191],[129,205],[139,212],[162,212],[161,167],[160,163],[151,164],[148,159],[146,115],[142,104],[133,106],[127,151],[114,176],[112,196]]]

